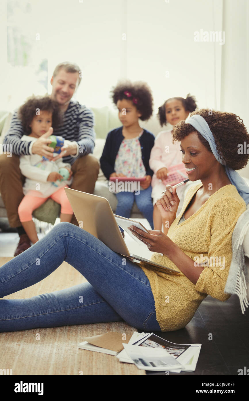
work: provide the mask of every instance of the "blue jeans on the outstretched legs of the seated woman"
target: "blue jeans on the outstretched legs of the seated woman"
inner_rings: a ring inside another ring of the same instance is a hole
[[[71,223],[56,225],[0,267],[0,298],[38,283],[64,260],[88,282],[28,299],[0,299],[0,332],[122,320],[161,331],[141,267]]]

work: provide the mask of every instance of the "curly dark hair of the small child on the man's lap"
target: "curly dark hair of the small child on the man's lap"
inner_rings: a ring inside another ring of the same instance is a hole
[[[52,100],[49,96],[31,96],[18,109],[18,118],[22,121],[22,126],[26,134],[31,133],[30,124],[36,116],[37,109],[51,111],[54,129],[62,124],[62,113],[56,101]]]

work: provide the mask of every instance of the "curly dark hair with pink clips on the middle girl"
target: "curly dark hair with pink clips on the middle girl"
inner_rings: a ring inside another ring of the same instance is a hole
[[[145,82],[120,81],[112,88],[111,97],[114,104],[118,100],[130,100],[141,113],[142,121],[148,120],[153,113],[153,97],[149,85]]]

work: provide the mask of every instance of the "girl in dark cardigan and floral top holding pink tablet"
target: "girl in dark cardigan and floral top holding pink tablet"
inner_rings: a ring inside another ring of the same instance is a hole
[[[154,135],[139,125],[152,115],[153,98],[151,89],[144,82],[118,83],[112,90],[112,99],[118,107],[118,116],[122,126],[110,131],[100,165],[106,178],[110,177],[145,177],[137,181],[136,189],[118,190],[118,206],[116,215],[129,218],[134,201],[139,211],[153,229],[153,204],[151,198],[151,177],[153,171],[149,167],[149,157],[154,145]],[[134,183],[135,184],[135,183]],[[133,185],[133,188],[135,185]],[[120,228],[123,233],[123,230]]]

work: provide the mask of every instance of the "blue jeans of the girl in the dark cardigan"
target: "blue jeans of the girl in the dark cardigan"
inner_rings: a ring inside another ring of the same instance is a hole
[[[153,225],[153,203],[151,198],[151,185],[144,190],[140,190],[140,193],[135,195],[135,192],[118,192],[116,194],[118,198],[118,206],[115,214],[118,216],[127,217],[129,219],[131,215],[131,209],[134,201],[137,204],[139,211],[143,214],[145,219],[149,222],[151,229],[154,229]],[[121,231],[124,231],[120,228]]]

